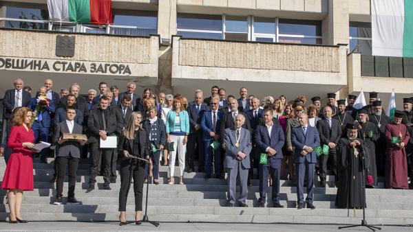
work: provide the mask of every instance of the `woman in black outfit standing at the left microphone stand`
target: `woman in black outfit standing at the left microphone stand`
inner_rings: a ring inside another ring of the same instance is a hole
[[[135,220],[136,224],[141,224],[143,179],[147,163],[131,157],[137,156],[141,159],[149,159],[149,139],[147,132],[142,128],[141,122],[142,113],[131,113],[125,130],[123,130],[119,139],[119,154],[123,154],[123,159],[120,161],[120,226],[127,224],[125,216],[126,200],[132,178],[134,178]]]

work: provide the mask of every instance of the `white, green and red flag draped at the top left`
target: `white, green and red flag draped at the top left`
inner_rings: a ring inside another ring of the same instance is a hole
[[[112,0],[47,0],[52,21],[112,24]]]

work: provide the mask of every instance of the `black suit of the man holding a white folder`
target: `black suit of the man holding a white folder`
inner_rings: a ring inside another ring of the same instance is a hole
[[[94,183],[96,183],[96,176],[98,175],[98,167],[102,155],[104,161],[103,179],[105,185],[109,186],[113,149],[99,148],[99,130],[106,130],[108,136],[117,135],[119,128],[122,127],[120,122],[123,119],[119,118],[120,115],[116,110],[107,108],[105,113],[106,126],[104,126],[102,113],[103,111],[100,108],[96,108],[89,113],[89,118],[87,119],[87,128],[89,129],[88,141],[92,151],[89,185],[94,185]],[[102,152],[102,154],[100,154],[100,152]]]

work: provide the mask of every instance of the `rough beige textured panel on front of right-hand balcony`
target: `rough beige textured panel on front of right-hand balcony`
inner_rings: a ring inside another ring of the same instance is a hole
[[[179,65],[338,73],[339,47],[181,39]]]

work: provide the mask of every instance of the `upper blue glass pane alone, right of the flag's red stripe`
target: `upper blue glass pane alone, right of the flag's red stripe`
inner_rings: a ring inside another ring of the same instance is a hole
[[[114,16],[114,25],[135,26],[145,29],[158,28],[158,16],[156,12],[134,11],[116,13]]]

